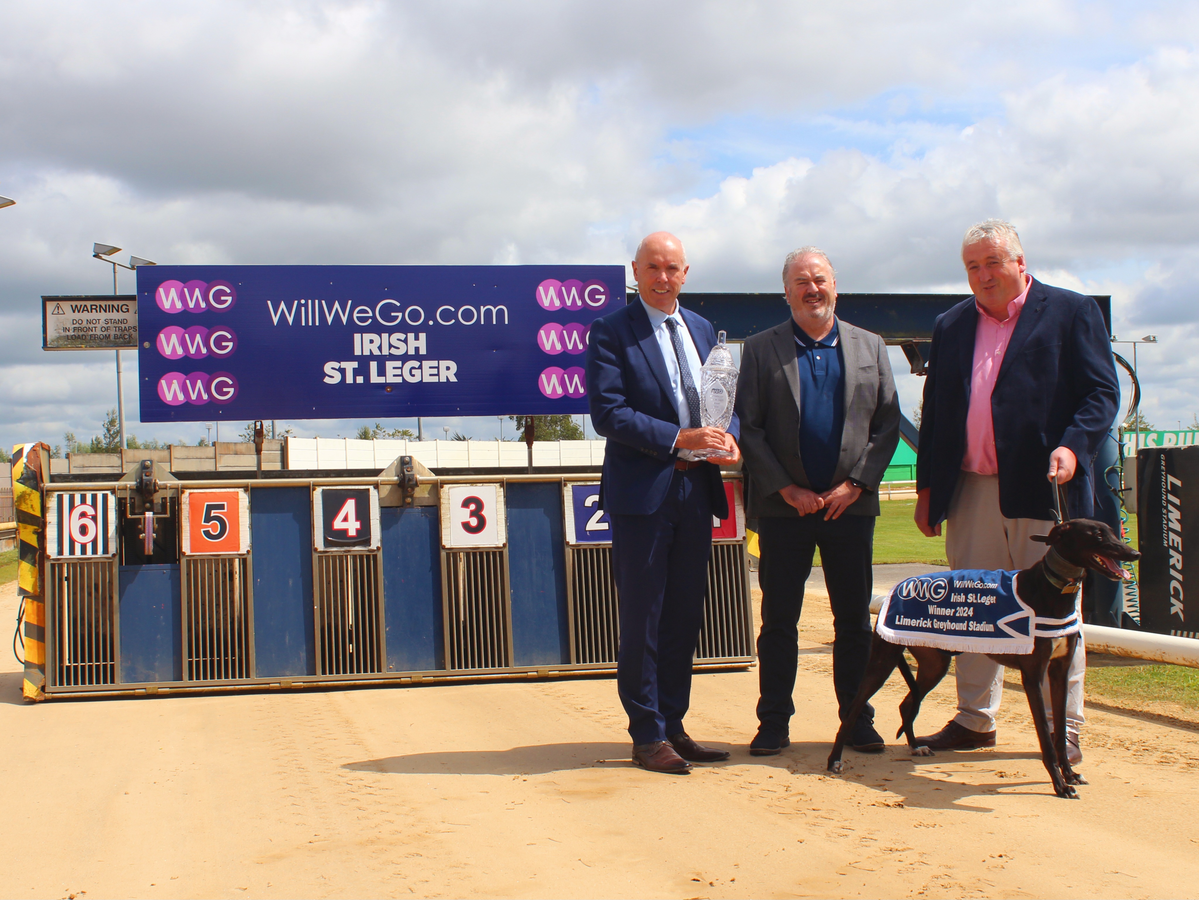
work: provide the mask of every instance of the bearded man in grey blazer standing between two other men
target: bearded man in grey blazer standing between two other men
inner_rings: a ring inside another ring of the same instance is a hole
[[[899,401],[882,338],[840,322],[829,257],[783,263],[791,317],[747,340],[737,382],[746,515],[758,518],[761,634],[754,756],[790,743],[803,583],[820,550],[832,605],[833,689],[849,708],[870,654],[870,570],[878,487],[899,440]],[[850,744],[880,751],[867,706]]]

